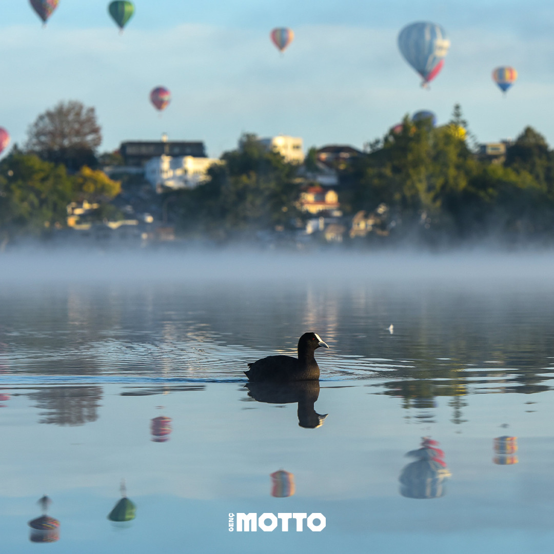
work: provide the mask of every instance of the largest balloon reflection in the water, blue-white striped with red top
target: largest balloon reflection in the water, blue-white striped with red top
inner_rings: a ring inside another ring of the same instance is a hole
[[[402,470],[400,494],[408,498],[439,498],[446,493],[444,485],[452,475],[444,461],[444,452],[436,440],[423,437],[421,448],[406,455],[416,458]]]

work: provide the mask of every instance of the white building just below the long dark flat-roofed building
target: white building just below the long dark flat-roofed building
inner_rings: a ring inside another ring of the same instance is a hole
[[[208,176],[208,168],[223,163],[217,158],[193,156],[160,156],[148,160],[144,166],[148,182],[161,192],[163,188],[194,188]]]

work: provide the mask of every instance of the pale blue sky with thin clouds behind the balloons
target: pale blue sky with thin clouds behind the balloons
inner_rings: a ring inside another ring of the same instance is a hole
[[[363,143],[406,113],[439,122],[460,102],[480,141],[515,137],[532,125],[554,143],[554,6],[535,0],[137,0],[119,35],[107,2],[60,0],[42,29],[27,0],[0,4],[0,126],[24,143],[35,117],[59,100],[95,106],[104,142],[203,140],[218,156],[241,132],[301,136],[305,147]],[[452,40],[429,91],[398,53],[398,31],[414,20],[443,25]],[[296,37],[281,57],[273,27]],[[491,70],[513,65],[507,98]],[[161,117],[150,90],[167,86]]]

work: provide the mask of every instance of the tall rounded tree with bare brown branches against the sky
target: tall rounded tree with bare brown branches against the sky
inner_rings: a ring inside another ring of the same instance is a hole
[[[63,163],[70,171],[97,164],[102,135],[94,107],[76,100],[58,102],[37,117],[27,134],[27,151],[45,161]]]

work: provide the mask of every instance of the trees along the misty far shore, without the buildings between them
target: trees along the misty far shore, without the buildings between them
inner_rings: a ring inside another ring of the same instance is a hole
[[[24,147],[14,147],[0,162],[0,242],[65,227],[70,202],[99,203],[92,216],[98,220],[113,213],[110,202],[121,184],[99,168],[101,162],[122,160],[117,152],[99,156],[100,143],[94,108],[60,102],[41,114]],[[189,238],[226,241],[266,233],[294,240],[311,217],[301,212],[298,200],[315,183],[315,148],[299,168],[245,134],[222,160],[196,188],[157,197],[164,223]],[[369,143],[337,171],[345,227],[356,213],[380,214],[381,233],[353,240],[451,244],[554,238],[554,152],[531,127],[507,143],[504,156],[486,157],[459,106],[440,127],[406,116],[401,128]]]

